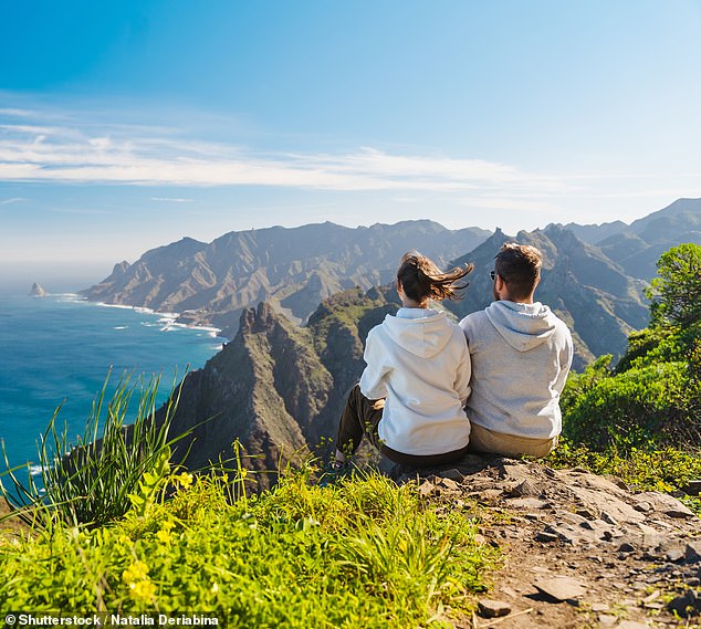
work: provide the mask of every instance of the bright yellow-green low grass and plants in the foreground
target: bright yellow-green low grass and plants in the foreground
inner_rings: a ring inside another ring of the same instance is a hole
[[[109,525],[57,522],[0,537],[0,610],[197,610],[257,628],[441,626],[471,608],[495,567],[474,522],[439,514],[411,484],[367,475],[320,488],[307,470],[247,497],[243,476],[191,486],[187,474],[164,478],[180,488],[171,500],[135,505]]]

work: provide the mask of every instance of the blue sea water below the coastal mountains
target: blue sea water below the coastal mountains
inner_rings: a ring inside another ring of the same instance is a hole
[[[75,295],[0,295],[0,439],[10,463],[36,462],[39,437],[61,403],[60,424],[82,432],[111,368],[115,385],[125,373],[163,374],[165,401],[176,369],[202,367],[221,343],[213,329]]]

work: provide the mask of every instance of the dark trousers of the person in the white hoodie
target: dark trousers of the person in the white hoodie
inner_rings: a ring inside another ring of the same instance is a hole
[[[336,448],[344,454],[350,455],[355,453],[360,445],[363,436],[366,436],[370,443],[387,459],[400,465],[414,468],[444,465],[458,461],[467,453],[468,448],[465,447],[441,454],[405,454],[385,445],[377,433],[377,427],[383,419],[383,405],[377,403],[378,401],[380,400],[368,400],[360,392],[358,385],[350,389],[346,406],[341,413],[338,437],[336,439]]]

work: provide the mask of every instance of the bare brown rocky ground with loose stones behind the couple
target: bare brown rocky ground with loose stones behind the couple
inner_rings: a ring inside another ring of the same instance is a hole
[[[457,627],[701,627],[701,520],[676,499],[579,468],[475,455],[418,482],[427,500],[468,516],[477,501],[484,543],[503,552],[479,615]]]

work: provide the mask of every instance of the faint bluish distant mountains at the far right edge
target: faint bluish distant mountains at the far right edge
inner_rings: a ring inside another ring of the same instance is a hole
[[[701,199],[679,199],[629,226],[616,221],[565,227],[580,240],[598,245],[628,275],[649,281],[665,251],[682,242],[701,244]]]

